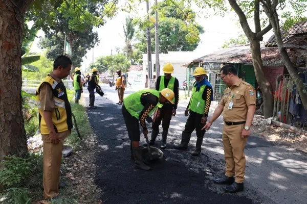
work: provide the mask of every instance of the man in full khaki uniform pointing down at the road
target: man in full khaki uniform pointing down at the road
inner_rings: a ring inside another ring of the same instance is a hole
[[[214,179],[215,184],[231,184],[225,191],[235,193],[244,189],[245,155],[244,148],[250,135],[250,126],[256,110],[255,89],[236,74],[232,65],[221,69],[221,79],[228,86],[221,103],[216,107],[213,116],[203,129],[209,130],[212,122],[224,110],[223,145],[226,160],[226,173],[221,178]],[[235,180],[234,176],[235,175]]]

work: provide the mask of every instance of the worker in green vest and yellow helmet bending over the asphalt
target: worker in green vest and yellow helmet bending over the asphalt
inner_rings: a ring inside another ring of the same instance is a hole
[[[173,98],[174,93],[168,88],[161,91],[141,90],[131,93],[124,98],[122,114],[130,139],[130,157],[135,160],[135,166],[142,170],[150,170],[150,167],[144,164],[142,158],[139,121],[143,127],[143,134],[147,135],[146,117],[152,115],[159,104],[173,104]]]

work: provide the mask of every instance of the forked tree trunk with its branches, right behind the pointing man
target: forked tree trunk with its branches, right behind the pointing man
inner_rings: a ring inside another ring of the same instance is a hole
[[[259,3],[255,2],[254,8],[254,24],[256,32],[252,32],[246,15],[242,11],[242,9],[237,4],[236,0],[228,0],[232,9],[236,12],[239,17],[240,25],[250,42],[251,53],[253,58],[253,66],[254,72],[256,76],[256,80],[261,88],[261,91],[264,95],[264,116],[265,118],[272,116],[273,110],[273,91],[271,84],[266,79],[263,64],[261,59],[261,51],[260,51],[260,41],[262,40],[263,36],[272,29],[272,26],[269,24],[266,28],[261,30],[260,27],[260,18],[259,18]]]

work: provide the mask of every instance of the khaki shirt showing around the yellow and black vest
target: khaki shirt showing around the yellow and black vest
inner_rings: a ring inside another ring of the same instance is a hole
[[[50,72],[50,77],[55,79],[57,83],[61,83],[62,80],[57,78],[52,72]],[[47,83],[43,83],[40,87],[40,92],[39,92],[39,97],[40,97],[40,106],[42,111],[54,111],[55,109],[55,103],[54,103],[54,98],[53,98],[53,93],[52,93],[52,88],[50,85]],[[70,130],[58,133],[59,139],[64,140],[70,135]],[[43,142],[51,142],[49,135],[41,135],[41,139]]]

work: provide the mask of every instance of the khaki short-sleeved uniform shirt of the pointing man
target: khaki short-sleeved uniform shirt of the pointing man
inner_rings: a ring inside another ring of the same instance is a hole
[[[229,103],[232,101],[232,109]],[[227,87],[224,91],[220,105],[224,106],[224,121],[246,121],[249,105],[256,105],[256,91],[252,85],[240,79],[233,87]]]

